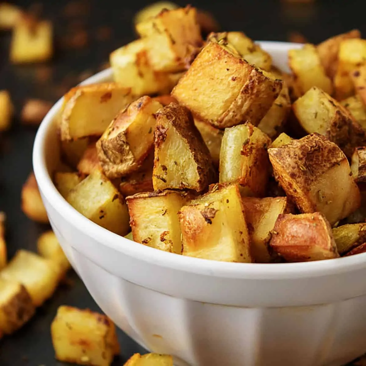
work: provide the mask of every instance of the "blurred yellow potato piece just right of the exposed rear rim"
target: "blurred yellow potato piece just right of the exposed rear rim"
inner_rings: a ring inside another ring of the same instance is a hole
[[[301,95],[313,86],[332,94],[332,81],[326,76],[314,45],[306,44],[301,49],[288,51],[288,65],[294,73],[294,83]]]

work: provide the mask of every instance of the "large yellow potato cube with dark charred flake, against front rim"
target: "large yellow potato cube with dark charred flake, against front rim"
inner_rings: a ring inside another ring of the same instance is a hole
[[[244,206],[236,184],[214,187],[179,212],[183,255],[251,262]]]

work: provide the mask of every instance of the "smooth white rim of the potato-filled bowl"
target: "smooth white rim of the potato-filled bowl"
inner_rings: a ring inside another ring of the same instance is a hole
[[[285,52],[301,45],[289,42],[264,41],[259,42],[267,51]],[[112,75],[111,68],[101,71],[82,84],[101,82]],[[121,254],[128,255],[139,261],[153,263],[164,268],[181,270],[184,272],[208,275],[214,277],[252,278],[252,279],[290,279],[334,275],[366,267],[366,253],[351,255],[323,261],[297,263],[232,263],[187,257],[175,253],[168,253],[119,236],[93,223],[76,211],[57,191],[46,167],[45,148],[46,137],[52,128],[52,122],[63,103],[63,97],[53,105],[38,128],[33,146],[33,169],[41,194],[46,201],[70,225],[77,227],[86,236],[91,236],[100,245],[108,246]],[[132,244],[132,245],[131,245]]]

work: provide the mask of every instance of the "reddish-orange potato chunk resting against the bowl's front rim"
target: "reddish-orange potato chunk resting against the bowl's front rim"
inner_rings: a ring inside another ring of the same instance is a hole
[[[320,261],[339,257],[332,228],[319,212],[280,214],[269,244],[288,262]]]

